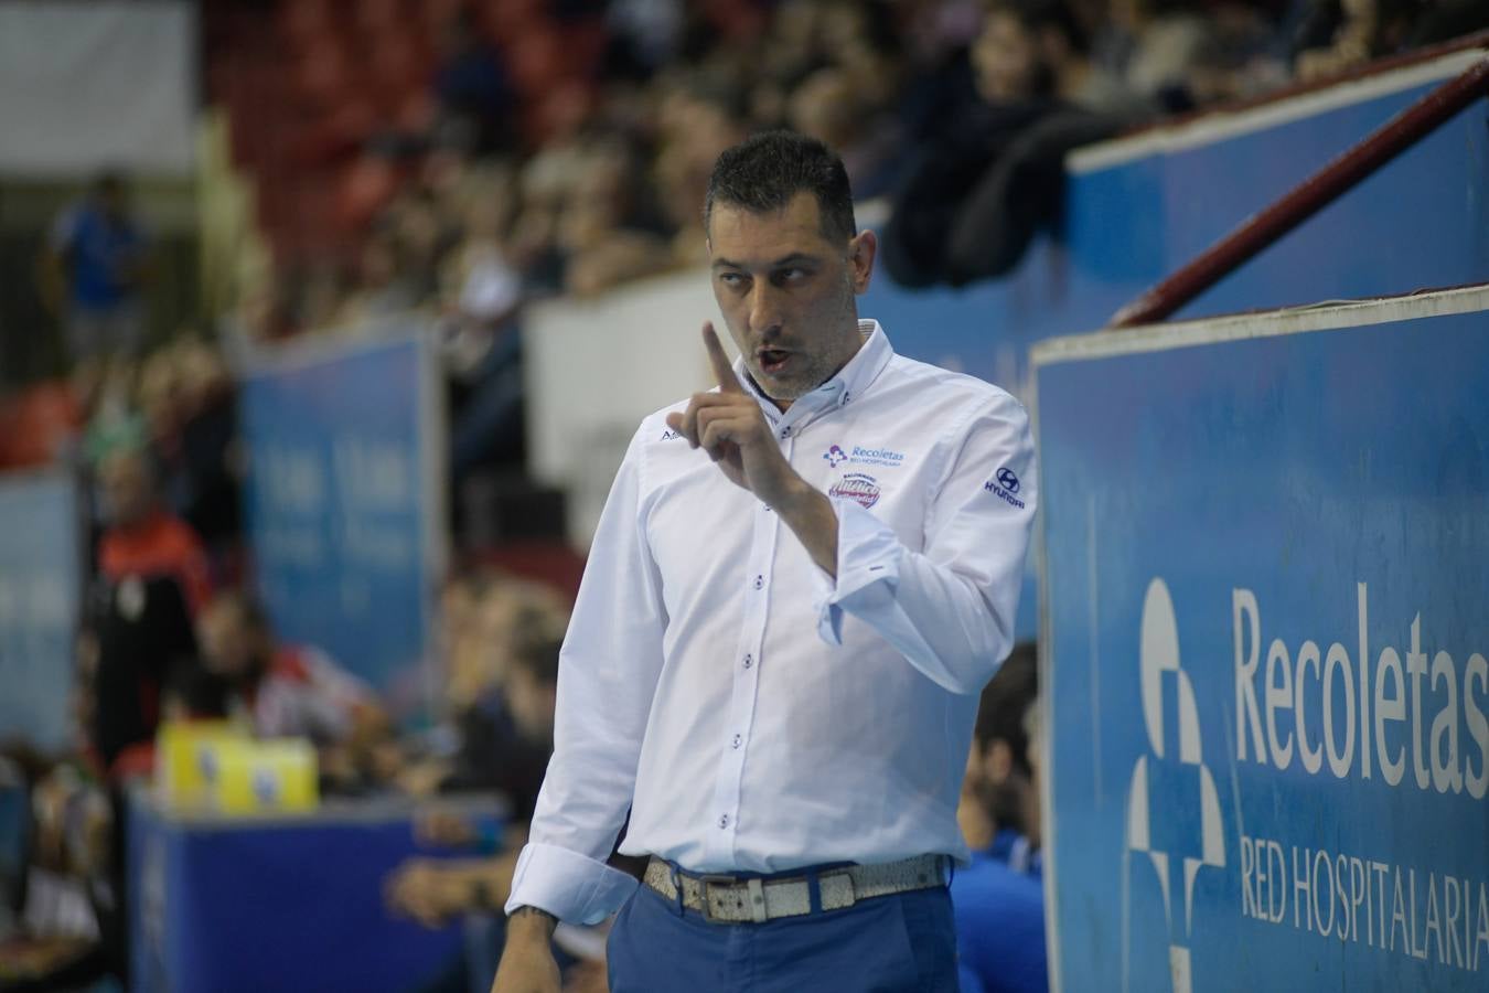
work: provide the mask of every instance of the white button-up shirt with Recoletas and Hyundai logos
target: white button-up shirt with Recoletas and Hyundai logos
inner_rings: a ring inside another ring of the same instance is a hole
[[[621,852],[697,872],[968,858],[956,804],[978,692],[1013,646],[1035,511],[1029,418],[896,356],[876,322],[785,412],[782,453],[838,515],[837,579],[777,514],[642,421],[558,667],[554,756],[512,880],[594,923]]]

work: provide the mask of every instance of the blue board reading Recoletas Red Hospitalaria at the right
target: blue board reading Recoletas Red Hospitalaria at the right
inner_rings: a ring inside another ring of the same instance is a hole
[[[1060,989],[1489,989],[1486,308],[1035,351]]]

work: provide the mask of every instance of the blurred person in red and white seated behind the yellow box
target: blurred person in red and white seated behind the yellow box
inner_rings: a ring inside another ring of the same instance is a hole
[[[228,715],[259,737],[305,737],[329,749],[381,731],[372,691],[320,649],[278,642],[247,594],[217,596],[198,628],[203,662],[223,683]]]

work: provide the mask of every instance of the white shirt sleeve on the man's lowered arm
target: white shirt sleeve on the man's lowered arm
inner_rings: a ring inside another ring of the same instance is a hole
[[[593,925],[636,880],[606,865],[636,785],[663,661],[661,581],[640,515],[640,432],[606,499],[558,661],[554,755],[506,911]]]

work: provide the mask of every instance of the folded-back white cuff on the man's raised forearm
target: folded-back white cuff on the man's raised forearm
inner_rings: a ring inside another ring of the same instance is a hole
[[[846,613],[873,613],[893,601],[905,548],[892,527],[856,500],[832,497],[832,509],[838,515],[837,579],[817,570],[817,634],[841,645]]]

